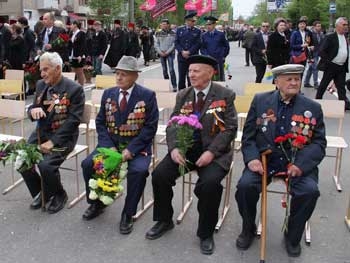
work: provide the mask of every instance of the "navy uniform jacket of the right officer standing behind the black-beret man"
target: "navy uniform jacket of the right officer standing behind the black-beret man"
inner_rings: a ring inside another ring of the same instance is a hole
[[[230,52],[230,45],[225,37],[225,33],[213,31],[213,34],[210,32],[205,32],[202,35],[202,46],[201,54],[206,56],[212,56],[215,58],[218,63],[223,63],[225,57]]]

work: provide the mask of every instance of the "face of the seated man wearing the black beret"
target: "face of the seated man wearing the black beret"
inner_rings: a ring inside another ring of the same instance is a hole
[[[192,86],[197,89],[205,89],[214,75],[214,69],[207,64],[191,64],[188,75]]]

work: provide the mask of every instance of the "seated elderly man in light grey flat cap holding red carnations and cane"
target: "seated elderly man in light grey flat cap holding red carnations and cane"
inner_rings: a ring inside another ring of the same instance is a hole
[[[303,65],[286,64],[272,69],[277,90],[255,95],[243,129],[242,153],[245,163],[240,178],[236,200],[243,219],[242,232],[236,246],[246,250],[256,233],[256,204],[261,192],[263,167],[260,154],[267,149],[268,182],[273,176],[290,178],[290,216],[284,232],[289,256],[301,253],[300,240],[306,221],[311,217],[320,195],[318,190],[318,165],[325,156],[326,138],[321,106],[299,93]],[[303,142],[291,159],[291,147],[275,143],[276,138],[298,136]],[[282,213],[282,211],[281,211]]]

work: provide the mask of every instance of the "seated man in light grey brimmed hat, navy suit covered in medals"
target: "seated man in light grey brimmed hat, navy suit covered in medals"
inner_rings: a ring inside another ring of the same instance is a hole
[[[133,229],[132,216],[146,185],[148,167],[151,162],[152,140],[158,126],[158,106],[153,91],[138,84],[137,60],[123,56],[116,67],[116,87],[104,91],[101,108],[96,117],[98,133],[97,147],[107,147],[122,153],[128,161],[127,196],[121,215],[120,233],[129,234]],[[105,205],[89,198],[89,179],[93,174],[93,151],[83,162],[89,207],[83,214],[84,220],[100,215]]]

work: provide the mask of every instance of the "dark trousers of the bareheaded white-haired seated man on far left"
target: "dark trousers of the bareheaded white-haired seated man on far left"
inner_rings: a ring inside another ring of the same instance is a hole
[[[59,167],[64,162],[67,152],[52,152],[44,154],[44,160],[38,164],[40,175],[43,179],[44,194],[46,199],[63,192]],[[27,170],[22,173],[32,197],[35,197],[41,191],[41,181],[39,174],[33,170]]]

